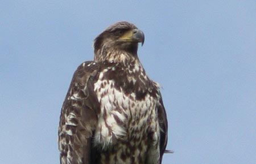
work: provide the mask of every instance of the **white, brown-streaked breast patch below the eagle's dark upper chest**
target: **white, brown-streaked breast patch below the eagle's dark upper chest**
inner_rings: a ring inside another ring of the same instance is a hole
[[[94,143],[102,149],[114,145],[117,140],[141,140],[148,130],[155,131],[154,140],[159,141],[159,126],[156,119],[156,98],[146,94],[142,100],[136,100],[135,93],[124,94],[116,89],[114,80],[104,79],[106,68],[94,83],[94,91],[100,102],[101,113],[94,133]],[[142,130],[142,131],[138,131]],[[132,135],[127,135],[127,133]],[[140,138],[139,138],[140,137]],[[136,143],[131,143],[136,145]],[[146,150],[144,150],[146,152]]]

